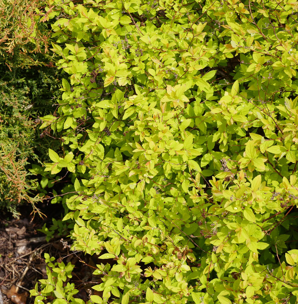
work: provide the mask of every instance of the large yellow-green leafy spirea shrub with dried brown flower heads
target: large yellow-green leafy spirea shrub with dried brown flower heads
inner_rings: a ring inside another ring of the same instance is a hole
[[[297,9],[50,0],[69,76],[46,171],[70,172],[72,249],[99,255],[90,303],[296,303]]]

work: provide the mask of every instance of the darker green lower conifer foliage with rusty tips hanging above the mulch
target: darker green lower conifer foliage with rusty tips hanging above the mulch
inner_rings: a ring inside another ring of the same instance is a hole
[[[31,57],[43,57],[42,54]],[[59,96],[57,70],[48,67],[11,67],[0,64],[0,208],[16,214],[16,206],[40,200],[36,170],[47,159],[53,141],[40,138],[34,118],[52,110]],[[57,144],[55,143],[55,146]],[[35,170],[32,170],[32,164]],[[29,172],[32,171],[32,173]]]

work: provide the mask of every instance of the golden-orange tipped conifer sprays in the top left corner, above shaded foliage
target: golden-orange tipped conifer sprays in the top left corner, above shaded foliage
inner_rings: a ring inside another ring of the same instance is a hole
[[[0,0],[0,58],[8,67],[30,67],[42,62],[33,52],[47,53],[47,23],[38,24],[43,0]],[[48,56],[49,57],[49,56]]]

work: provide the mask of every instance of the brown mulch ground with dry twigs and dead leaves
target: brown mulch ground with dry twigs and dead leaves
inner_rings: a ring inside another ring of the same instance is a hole
[[[48,207],[53,209],[44,205],[45,214]],[[57,207],[54,210],[57,212]],[[47,227],[52,224],[51,212],[48,212],[47,217],[41,218],[30,215],[30,206],[20,206],[18,211],[19,218],[14,218],[9,213],[0,215],[0,304],[34,303],[34,298],[29,296],[29,290],[34,288],[39,279],[47,278],[44,253],[55,257],[56,261],[62,260],[65,264],[71,262],[75,265],[71,278],[71,282],[79,290],[75,297],[87,302],[91,286],[99,283],[92,275],[93,267],[96,267],[94,258],[86,258],[80,252],[74,253],[65,248],[61,236],[54,236],[49,242],[46,241],[46,236],[38,229],[44,223],[48,223]],[[69,238],[63,238],[71,244]],[[49,298],[45,302],[51,300],[53,299]]]

